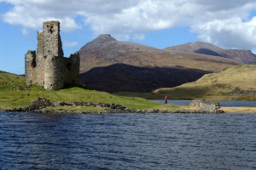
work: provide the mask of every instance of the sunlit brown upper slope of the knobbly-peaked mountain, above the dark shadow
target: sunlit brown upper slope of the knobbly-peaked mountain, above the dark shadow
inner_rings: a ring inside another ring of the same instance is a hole
[[[139,67],[186,67],[202,71],[222,71],[241,62],[206,54],[152,48],[133,42],[117,41],[108,34],[88,42],[79,50],[80,72],[117,63]]]

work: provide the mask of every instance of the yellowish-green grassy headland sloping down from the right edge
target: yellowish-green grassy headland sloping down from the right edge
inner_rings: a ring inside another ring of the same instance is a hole
[[[247,99],[256,100],[256,65],[236,65],[218,73],[207,74],[196,82],[175,88],[159,88],[153,93],[119,93],[146,99]]]

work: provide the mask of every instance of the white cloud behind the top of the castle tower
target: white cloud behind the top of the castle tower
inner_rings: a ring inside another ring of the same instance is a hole
[[[60,20],[63,31],[74,31],[81,28],[74,20],[75,14],[72,11],[70,13],[63,12],[61,8],[58,8],[58,3],[54,3],[54,0],[6,0],[6,3],[14,5],[14,8],[3,14],[3,21],[11,25],[40,30],[45,20]],[[66,9],[63,8],[63,10]]]

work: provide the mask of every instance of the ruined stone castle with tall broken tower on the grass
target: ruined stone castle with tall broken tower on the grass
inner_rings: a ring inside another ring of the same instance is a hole
[[[66,83],[79,84],[79,65],[78,53],[63,57],[60,22],[46,21],[43,31],[38,31],[37,52],[29,50],[25,55],[26,83],[47,90],[64,88]]]

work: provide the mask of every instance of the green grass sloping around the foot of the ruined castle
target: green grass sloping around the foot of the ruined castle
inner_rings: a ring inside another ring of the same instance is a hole
[[[58,91],[47,91],[43,87],[32,85],[28,87],[24,77],[0,72],[0,110],[13,109],[30,105],[39,97],[50,101],[92,102],[119,104],[135,110],[168,110],[177,111],[180,108],[172,105],[162,105],[147,99],[116,96],[105,92],[89,90],[86,87],[68,87]],[[86,108],[88,109],[88,108]]]

